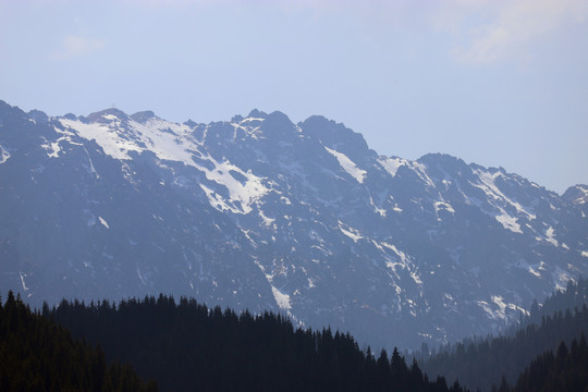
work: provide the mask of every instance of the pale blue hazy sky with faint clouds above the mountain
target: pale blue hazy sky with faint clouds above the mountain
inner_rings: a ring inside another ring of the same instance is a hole
[[[587,0],[0,0],[0,99],[322,114],[381,155],[588,184]]]

